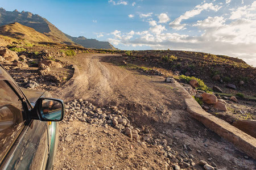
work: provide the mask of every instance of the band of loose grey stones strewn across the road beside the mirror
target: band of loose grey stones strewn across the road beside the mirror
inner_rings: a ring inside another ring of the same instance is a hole
[[[130,139],[140,142],[141,145],[158,147],[159,151],[156,154],[167,158],[167,163],[171,164],[173,169],[188,168],[196,165],[193,160],[194,156],[189,154],[193,150],[189,145],[183,145],[183,151],[181,152],[173,150],[171,145],[175,145],[175,142],[162,138],[154,139],[148,129],[133,127],[125,114],[116,106],[110,105],[97,108],[89,101],[82,99],[69,101],[65,104],[63,123],[71,124],[74,120],[88,124],[98,124],[104,128],[113,127],[120,130]],[[175,140],[179,140],[179,138],[175,138]],[[212,165],[216,166],[215,164]]]

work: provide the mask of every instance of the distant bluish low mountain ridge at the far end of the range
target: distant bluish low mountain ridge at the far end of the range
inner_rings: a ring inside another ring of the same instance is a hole
[[[77,44],[80,44],[80,45],[84,46],[85,48],[117,50],[117,48],[114,48],[114,46],[111,45],[108,41],[98,41],[96,39],[86,39],[83,36],[72,37],[67,34],[65,34],[65,35],[69,39],[71,39],[73,42],[76,42]]]

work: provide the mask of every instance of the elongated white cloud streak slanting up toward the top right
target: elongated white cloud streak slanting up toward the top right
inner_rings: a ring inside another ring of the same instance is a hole
[[[192,18],[193,16],[199,15],[203,10],[213,10],[218,11],[221,7],[218,5],[213,5],[213,3],[204,3],[203,5],[197,5],[193,10],[185,12],[185,14],[181,15],[179,18],[176,18],[169,25],[173,29],[180,30],[184,29],[186,24],[181,24],[182,20],[186,20]]]

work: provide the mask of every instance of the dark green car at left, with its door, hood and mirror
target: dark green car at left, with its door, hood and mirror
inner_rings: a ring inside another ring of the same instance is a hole
[[[0,64],[0,169],[53,169],[63,100],[19,88]]]

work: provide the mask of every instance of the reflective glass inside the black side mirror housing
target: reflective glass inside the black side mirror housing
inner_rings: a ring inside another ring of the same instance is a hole
[[[42,117],[49,121],[59,121],[62,118],[63,105],[61,101],[43,99],[42,100]]]

